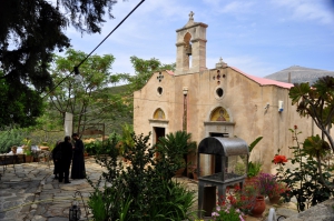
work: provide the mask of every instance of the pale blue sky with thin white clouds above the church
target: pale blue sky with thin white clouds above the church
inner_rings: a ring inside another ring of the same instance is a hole
[[[90,53],[139,2],[118,0],[100,34],[68,28],[71,47]],[[208,24],[208,69],[222,57],[256,77],[292,66],[334,71],[334,0],[146,0],[94,54],[112,54],[112,73],[134,74],[131,56],[176,62],[176,30],[190,11]]]

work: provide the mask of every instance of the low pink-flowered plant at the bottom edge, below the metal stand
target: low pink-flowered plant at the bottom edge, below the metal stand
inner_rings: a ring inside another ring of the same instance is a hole
[[[245,221],[243,215],[244,213],[239,209],[232,205],[217,205],[212,213],[216,221]]]

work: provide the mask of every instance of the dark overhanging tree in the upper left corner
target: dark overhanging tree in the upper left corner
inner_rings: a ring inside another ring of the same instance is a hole
[[[48,70],[55,50],[63,50],[70,46],[70,39],[63,30],[72,24],[81,33],[100,32],[106,12],[111,12],[116,0],[1,0],[0,1],[0,93],[10,94],[7,102],[1,99],[1,107],[16,111],[14,122],[30,124],[32,119],[22,119],[28,110],[41,114],[38,93],[52,88],[52,78]],[[73,69],[73,67],[72,67]],[[27,87],[29,84],[29,87]],[[14,90],[16,91],[7,91]],[[37,92],[33,92],[37,91]],[[22,98],[33,99],[38,110],[21,102]],[[20,103],[20,107],[16,106]],[[3,110],[4,110],[3,109]],[[0,125],[8,125],[1,111]],[[24,111],[24,114],[22,114]],[[4,115],[3,115],[4,114]],[[2,119],[3,118],[3,119]],[[10,119],[10,118],[9,118]],[[23,122],[24,121],[24,122]]]

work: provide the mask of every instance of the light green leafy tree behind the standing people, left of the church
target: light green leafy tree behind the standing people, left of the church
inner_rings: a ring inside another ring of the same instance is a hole
[[[116,118],[126,106],[119,94],[106,90],[112,77],[109,71],[115,58],[111,54],[89,57],[79,69],[81,81],[68,76],[73,64],[86,57],[86,53],[73,49],[67,50],[65,58],[57,57],[52,77],[55,82],[62,83],[49,94],[50,106],[57,110],[58,117],[63,119],[66,112],[73,113],[73,131],[84,129],[79,124],[100,123],[106,118]]]

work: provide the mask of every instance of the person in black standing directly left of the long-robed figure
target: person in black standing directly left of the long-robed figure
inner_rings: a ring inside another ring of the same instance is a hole
[[[71,138],[66,135],[63,142],[60,143],[61,149],[61,160],[60,160],[60,173],[59,173],[59,182],[71,183],[69,181],[69,168],[71,165],[72,160],[72,144]]]

